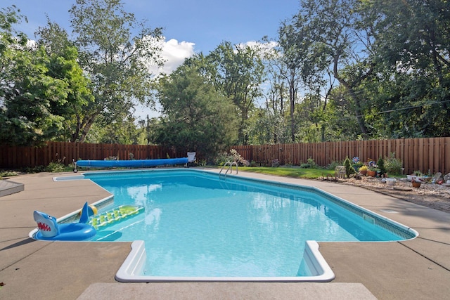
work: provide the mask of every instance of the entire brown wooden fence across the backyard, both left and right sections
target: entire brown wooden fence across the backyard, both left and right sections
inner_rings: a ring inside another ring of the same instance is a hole
[[[362,162],[378,160],[395,153],[401,159],[405,174],[415,170],[450,173],[450,138],[411,138],[397,140],[346,141],[325,143],[296,143],[276,145],[247,145],[231,147],[249,162],[270,166],[272,159],[281,164],[300,165],[312,158],[316,164],[327,166],[345,157],[359,157]],[[200,153],[197,155],[199,159]],[[131,157],[132,156],[132,157]],[[72,163],[72,159],[157,159],[186,157],[186,152],[166,149],[159,145],[119,145],[48,142],[41,148],[0,146],[0,168],[47,166],[50,162]]]

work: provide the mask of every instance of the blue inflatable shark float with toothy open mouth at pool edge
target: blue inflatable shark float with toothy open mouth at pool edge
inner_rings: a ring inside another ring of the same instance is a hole
[[[84,204],[79,223],[58,224],[54,216],[41,211],[34,211],[34,221],[38,231],[34,238],[37,240],[80,241],[96,235],[97,231],[89,222],[89,205]]]

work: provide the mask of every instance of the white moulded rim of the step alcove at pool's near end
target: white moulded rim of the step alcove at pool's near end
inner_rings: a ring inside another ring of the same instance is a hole
[[[326,263],[319,252],[319,243],[314,240],[306,241],[303,259],[311,273],[311,276],[295,277],[169,277],[146,276],[143,267],[146,264],[145,242],[136,240],[131,243],[131,252],[128,254],[122,266],[115,274],[119,282],[179,282],[179,281],[239,281],[239,282],[329,282],[335,278],[335,273]]]

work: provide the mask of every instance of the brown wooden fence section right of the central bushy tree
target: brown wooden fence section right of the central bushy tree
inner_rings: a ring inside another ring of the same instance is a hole
[[[347,156],[359,157],[361,162],[391,153],[401,159],[404,174],[415,170],[431,173],[450,173],[450,138],[411,138],[397,140],[342,141],[324,143],[295,143],[276,145],[240,145],[231,147],[249,162],[258,166],[271,166],[272,159],[281,164],[300,165],[312,158],[316,164],[327,166]]]

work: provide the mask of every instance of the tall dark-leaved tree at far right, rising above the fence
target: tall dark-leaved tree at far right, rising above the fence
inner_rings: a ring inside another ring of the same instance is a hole
[[[450,7],[443,0],[367,1],[377,77],[366,85],[385,136],[449,136]]]

